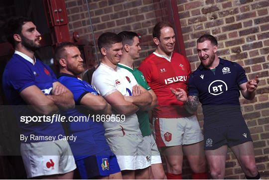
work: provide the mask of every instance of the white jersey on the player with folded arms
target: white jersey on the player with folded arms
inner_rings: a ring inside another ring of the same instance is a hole
[[[137,84],[133,74],[128,70],[117,67],[117,71],[113,68],[101,63],[93,73],[92,86],[97,92],[106,97],[107,95],[119,91],[123,96],[131,96],[133,86]],[[119,113],[112,111],[115,115]],[[112,120],[112,119],[111,119]],[[106,121],[104,122],[106,130],[105,136],[117,136],[124,134],[141,134],[136,114],[125,116],[125,121]]]

